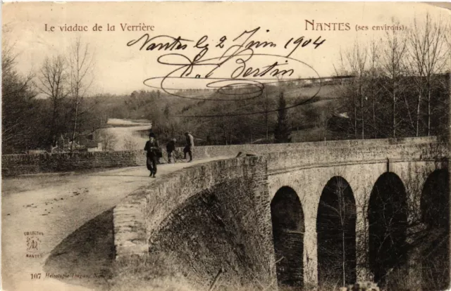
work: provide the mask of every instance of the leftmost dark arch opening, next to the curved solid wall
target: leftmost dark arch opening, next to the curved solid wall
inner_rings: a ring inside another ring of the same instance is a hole
[[[304,285],[304,212],[295,190],[283,186],[271,200],[273,243],[279,287]]]

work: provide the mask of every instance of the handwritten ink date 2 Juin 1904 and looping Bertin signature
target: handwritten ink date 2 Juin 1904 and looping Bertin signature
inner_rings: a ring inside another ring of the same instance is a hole
[[[278,47],[278,44],[274,41],[258,40],[258,32],[261,32],[261,27],[245,30],[231,41],[227,36],[223,36],[213,44],[207,35],[194,41],[169,35],[151,37],[149,34],[143,34],[138,39],[128,41],[127,46],[137,47],[140,51],[170,51],[171,53],[164,53],[156,60],[159,64],[171,67],[173,70],[163,77],[145,79],[144,84],[180,98],[242,101],[261,96],[264,92],[264,84],[299,80],[294,76],[301,72],[305,73],[306,70],[309,71],[310,76],[320,77],[311,65],[292,58],[292,54],[306,46],[319,48],[326,39],[321,36],[316,39],[292,37],[283,45],[283,50],[287,53],[280,55],[267,52]],[[229,43],[230,46],[228,46]],[[221,56],[208,57],[211,46],[217,50],[223,50]],[[189,51],[188,48],[197,49],[192,58],[188,56],[189,53],[185,53]],[[265,52],[258,52],[262,50]],[[180,91],[183,87],[213,89],[223,98],[209,98],[209,94],[206,96],[183,95]],[[233,90],[237,88],[246,90]]]

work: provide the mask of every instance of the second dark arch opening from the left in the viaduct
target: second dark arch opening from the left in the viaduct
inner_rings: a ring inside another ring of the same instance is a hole
[[[316,216],[318,281],[323,287],[356,280],[356,205],[350,184],[334,176],[324,186]]]

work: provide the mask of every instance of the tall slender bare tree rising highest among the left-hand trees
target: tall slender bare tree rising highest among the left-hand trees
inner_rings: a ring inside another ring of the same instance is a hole
[[[37,78],[37,88],[39,91],[50,98],[52,113],[49,131],[49,143],[55,145],[58,138],[57,120],[61,102],[68,96],[68,75],[66,72],[66,60],[63,56],[55,56],[54,58],[46,58],[39,71]]]

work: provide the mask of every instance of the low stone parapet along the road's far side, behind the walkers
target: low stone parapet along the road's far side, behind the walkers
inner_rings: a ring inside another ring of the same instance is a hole
[[[299,153],[312,148],[371,148],[386,145],[421,145],[436,143],[435,136],[422,138],[369,139],[349,141],[321,141],[311,143],[279,143],[267,145],[209,145],[194,147],[194,159],[206,157],[235,157],[238,153]],[[178,148],[183,152],[183,148]],[[164,147],[163,147],[164,151]],[[333,151],[333,150],[329,150]],[[163,153],[166,158],[166,153]],[[143,166],[146,163],[143,150],[93,152],[93,153],[58,153],[41,155],[2,155],[1,174],[15,176],[44,172],[66,172],[78,169],[109,167]]]

